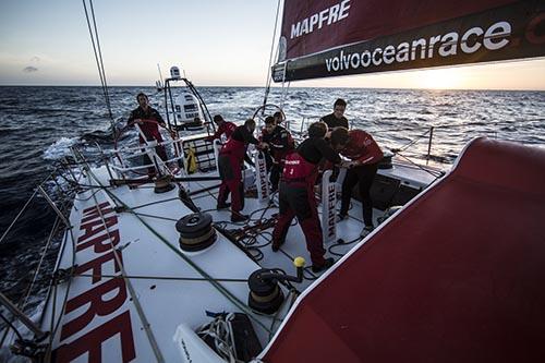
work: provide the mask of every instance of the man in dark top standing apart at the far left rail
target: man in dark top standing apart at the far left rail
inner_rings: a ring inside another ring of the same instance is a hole
[[[154,140],[158,143],[162,143],[162,136],[159,132],[159,125],[166,128],[167,124],[165,123],[165,120],[155,108],[149,106],[149,100],[146,94],[140,93],[136,96],[136,101],[138,102],[138,107],[131,111],[126,123],[129,125],[138,124],[142,133],[146,137],[146,140],[144,140],[142,135],[138,135],[138,141],[141,144],[145,144],[146,141]],[[167,152],[165,150],[165,146],[156,146],[155,150],[157,153],[157,156],[159,156],[161,160],[167,160]],[[152,160],[149,159],[147,154],[144,154],[143,161],[144,165],[152,164]],[[147,171],[149,177],[155,176],[154,167],[149,167]]]

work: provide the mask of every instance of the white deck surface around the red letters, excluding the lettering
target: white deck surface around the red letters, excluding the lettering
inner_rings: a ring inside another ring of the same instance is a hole
[[[388,173],[395,174],[401,169],[388,170]],[[98,178],[101,185],[109,185],[108,174],[105,168],[96,169],[93,171]],[[407,172],[407,171],[405,171]],[[412,170],[409,173],[414,173],[416,171]],[[423,173],[423,171],[420,171]],[[206,176],[214,176],[215,173],[207,173]],[[420,176],[420,180],[426,177],[427,173]],[[425,179],[424,179],[425,180]],[[83,184],[97,184],[93,179],[85,179],[82,181]],[[213,185],[218,185],[219,181],[205,181],[205,182],[191,182],[185,184],[186,189],[191,193],[196,193],[198,190],[209,187]],[[92,191],[87,191],[78,195],[77,199],[74,202],[74,209],[71,215],[71,223],[73,225],[73,237],[75,243],[84,234],[82,230],[82,211],[85,208],[95,206],[97,203],[108,202],[110,205],[120,204],[122,201],[124,205],[130,208],[135,208],[134,213],[138,216],[133,215],[129,211],[122,213],[109,213],[105,217],[117,217],[117,223],[108,228],[110,233],[119,231],[120,242],[117,245],[118,251],[122,254],[122,264],[124,267],[125,276],[129,281],[125,285],[126,298],[119,306],[114,310],[108,311],[104,316],[100,314],[92,314],[92,319],[87,324],[83,324],[75,332],[70,336],[62,337],[61,331],[66,328],[66,325],[72,324],[76,319],[81,319],[82,316],[90,311],[89,303],[81,304],[80,307],[73,310],[72,312],[64,314],[61,317],[61,323],[59,329],[55,336],[53,347],[59,349],[59,347],[66,347],[73,351],[77,342],[84,341],[85,349],[93,348],[93,339],[89,336],[93,334],[93,329],[104,329],[108,322],[112,322],[117,317],[122,316],[124,313],[129,312],[130,326],[132,331],[128,332],[123,339],[122,334],[113,332],[111,338],[105,340],[104,342],[98,341],[98,346],[95,342],[95,348],[99,347],[101,349],[102,358],[107,358],[108,362],[121,361],[121,351],[126,346],[134,347],[135,361],[137,362],[152,362],[156,360],[154,355],[154,350],[152,348],[153,341],[155,340],[158,347],[158,351],[167,362],[180,361],[180,351],[177,344],[173,342],[173,336],[177,327],[180,324],[185,324],[192,329],[197,328],[204,323],[210,320],[206,316],[206,311],[209,312],[241,312],[240,306],[237,306],[229,298],[222,294],[215,286],[206,280],[165,280],[160,278],[203,278],[203,276],[195,270],[180,254],[184,254],[179,247],[179,234],[175,230],[175,221],[181,217],[191,213],[191,210],[185,207],[178,197],[178,187],[164,194],[154,193],[153,184],[145,184],[137,189],[129,189],[128,186],[109,187],[111,195],[108,195],[104,191],[98,191],[94,194]],[[230,210],[216,210],[216,197],[218,194],[217,187],[209,191],[203,191],[192,195],[194,203],[203,210],[209,213],[214,222],[220,226],[226,226],[227,229],[233,230],[242,228],[243,225],[231,223]],[[95,202],[96,197],[96,202]],[[169,201],[170,199],[170,201]],[[145,204],[155,203],[152,205],[142,206]],[[142,206],[142,207],[141,207]],[[251,215],[250,226],[254,225],[257,220],[263,220],[264,218],[270,218],[274,214],[278,213],[278,209],[272,203],[268,207],[268,203],[258,202],[257,198],[246,197],[244,214]],[[320,210],[320,208],[319,208]],[[148,215],[148,216],[143,216]],[[153,217],[152,217],[153,216]],[[374,218],[382,216],[382,211],[375,210]],[[138,219],[142,218],[142,219]],[[166,218],[166,219],[161,219]],[[295,222],[296,219],[294,219]],[[222,223],[222,221],[229,221],[228,223]],[[87,221],[88,222],[88,221]],[[157,234],[144,223],[147,223]],[[101,225],[97,225],[101,226]],[[348,244],[336,244],[332,246],[332,252],[336,254],[344,254],[350,249],[356,246],[360,241],[359,234],[363,227],[362,222],[362,208],[359,202],[353,201],[350,210],[350,218],[341,221],[337,225],[338,238],[342,238],[344,241],[352,243]],[[98,228],[98,227],[97,227]],[[209,249],[198,252],[198,253],[185,253],[184,256],[189,257],[191,262],[199,266],[206,271],[210,277],[215,279],[246,279],[254,270],[261,267],[268,268],[281,268],[289,275],[295,275],[295,268],[293,266],[293,258],[296,256],[302,256],[307,262],[307,268],[304,273],[304,280],[302,283],[293,283],[299,291],[306,289],[318,276],[319,274],[313,274],[310,269],[310,256],[306,251],[304,237],[302,230],[299,226],[292,226],[287,235],[286,243],[282,245],[281,250],[274,253],[270,249],[270,233],[272,228],[263,230],[256,239],[256,245],[265,245],[259,249],[263,253],[263,258],[258,262],[254,262],[243,251],[230,242],[227,238],[218,233],[217,242]],[[106,233],[106,232],[104,232]],[[95,233],[88,239],[83,239],[81,243],[85,243],[92,240],[96,235],[104,234]],[[106,242],[105,242],[106,243]],[[167,245],[167,243],[170,245]],[[331,247],[331,244],[325,245],[326,250]],[[70,233],[66,234],[65,250],[60,259],[60,268],[70,268],[74,265],[83,265],[97,257],[101,257],[108,254],[107,252],[95,253],[93,247],[84,249],[75,253],[75,261],[72,261],[72,241]],[[331,254],[327,252],[326,256]],[[331,255],[336,261],[340,258],[339,255]],[[89,295],[93,291],[96,291],[97,287],[111,280],[110,275],[120,275],[119,271],[114,270],[113,259],[105,262],[101,266],[101,270],[95,270],[105,275],[95,283],[92,282],[90,277],[77,276],[72,278],[70,283],[70,291],[68,294],[68,301],[77,301],[82,297]],[[92,274],[93,270],[88,270],[84,274]],[[145,278],[135,278],[145,277]],[[154,278],[157,277],[157,278]],[[229,293],[238,299],[242,304],[247,303],[249,288],[247,283],[244,281],[218,281]],[[63,297],[66,290],[66,282],[60,283],[57,288],[57,300],[55,312],[58,315],[62,310]],[[95,290],[94,290],[95,289]],[[284,289],[287,293],[287,290]],[[95,295],[100,298],[100,293],[95,292]],[[108,302],[109,300],[116,300],[120,292],[118,289],[106,293],[102,300]],[[78,297],[77,299],[74,299]],[[232,299],[232,298],[231,298]],[[288,301],[288,299],[287,299]],[[289,299],[292,302],[291,299]],[[142,312],[138,314],[138,306],[142,307]],[[284,304],[282,311],[278,314],[278,318],[281,319],[286,316],[289,308],[289,304]],[[50,330],[50,319],[51,319],[51,305],[46,310],[46,317],[44,319],[44,328]],[[246,307],[247,308],[247,307]],[[123,315],[125,316],[125,315]],[[146,334],[144,329],[143,320],[149,323],[149,332]],[[125,322],[126,323],[126,322]],[[274,332],[279,326],[280,320],[276,320],[272,324],[272,317],[263,316],[258,314],[252,314],[253,326],[259,337],[262,346],[265,347],[269,340],[269,331]],[[272,329],[270,327],[274,326]],[[119,332],[119,331],[118,331]],[[101,332],[101,336],[107,335],[107,332]],[[102,339],[101,338],[101,339]],[[90,342],[89,342],[90,341]],[[66,346],[65,346],[66,344]],[[59,351],[62,350],[59,349]],[[80,355],[76,361],[86,361],[86,353]]]

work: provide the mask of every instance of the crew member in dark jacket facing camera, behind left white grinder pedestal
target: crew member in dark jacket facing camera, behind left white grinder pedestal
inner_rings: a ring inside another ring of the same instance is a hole
[[[270,171],[270,191],[274,193],[278,190],[286,156],[293,152],[294,142],[290,132],[278,125],[270,116],[265,119],[262,140],[269,145],[270,162],[267,162],[267,168]]]

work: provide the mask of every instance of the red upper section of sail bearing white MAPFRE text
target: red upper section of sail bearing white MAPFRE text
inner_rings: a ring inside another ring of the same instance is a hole
[[[292,59],[513,2],[517,0],[286,0],[281,35],[287,39],[287,59]]]

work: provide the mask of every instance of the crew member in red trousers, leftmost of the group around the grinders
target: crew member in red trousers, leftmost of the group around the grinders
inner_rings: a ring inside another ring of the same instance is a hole
[[[244,221],[249,216],[240,214],[244,208],[244,183],[242,181],[242,164],[249,144],[259,148],[267,144],[257,141],[253,133],[255,121],[247,119],[243,125],[234,129],[231,137],[221,146],[218,156],[219,176],[221,185],[218,194],[218,209],[227,208],[227,197],[231,193],[231,221]]]

